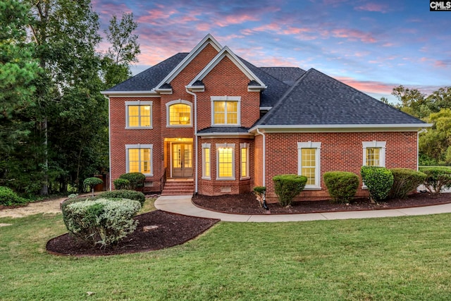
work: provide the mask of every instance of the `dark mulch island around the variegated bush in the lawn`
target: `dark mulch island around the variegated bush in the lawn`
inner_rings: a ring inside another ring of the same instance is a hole
[[[113,255],[160,250],[165,247],[181,245],[196,238],[217,223],[218,219],[171,214],[165,211],[152,211],[136,216],[139,222],[135,232],[128,235],[116,247],[105,250],[91,247],[85,242],[64,234],[47,242],[47,251],[60,255]],[[144,226],[158,226],[156,230],[144,232]]]

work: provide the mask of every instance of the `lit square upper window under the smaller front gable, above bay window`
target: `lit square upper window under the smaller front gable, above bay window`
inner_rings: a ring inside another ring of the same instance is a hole
[[[240,102],[239,96],[212,96],[211,125],[240,125]]]

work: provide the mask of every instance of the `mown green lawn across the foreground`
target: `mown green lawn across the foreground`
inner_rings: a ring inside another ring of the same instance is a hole
[[[168,250],[74,258],[44,250],[61,214],[0,219],[0,300],[451,300],[450,220],[221,222]]]

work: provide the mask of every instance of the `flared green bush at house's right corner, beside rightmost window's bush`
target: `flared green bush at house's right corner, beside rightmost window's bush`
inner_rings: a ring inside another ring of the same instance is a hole
[[[407,168],[392,168],[390,171],[393,174],[393,186],[388,192],[390,199],[404,199],[409,192],[416,190],[421,183],[424,183],[427,177],[426,173]]]

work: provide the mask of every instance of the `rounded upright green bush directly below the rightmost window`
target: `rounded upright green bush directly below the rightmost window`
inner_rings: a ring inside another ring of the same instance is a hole
[[[385,167],[362,166],[362,180],[369,190],[371,200],[379,202],[388,196],[393,186],[393,174]]]

